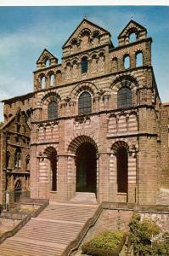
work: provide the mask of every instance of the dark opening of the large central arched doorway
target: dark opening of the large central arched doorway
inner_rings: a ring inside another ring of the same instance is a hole
[[[96,148],[92,143],[82,143],[76,150],[76,192],[97,190]]]

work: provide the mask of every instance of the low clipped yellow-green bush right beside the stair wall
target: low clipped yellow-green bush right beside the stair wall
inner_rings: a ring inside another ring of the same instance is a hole
[[[84,243],[82,253],[95,256],[116,256],[121,252],[125,240],[126,235],[121,231],[104,231],[91,241]]]

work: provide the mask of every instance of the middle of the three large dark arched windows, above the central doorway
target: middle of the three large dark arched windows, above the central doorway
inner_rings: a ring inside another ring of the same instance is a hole
[[[91,113],[92,97],[87,91],[82,92],[78,102],[79,114]]]

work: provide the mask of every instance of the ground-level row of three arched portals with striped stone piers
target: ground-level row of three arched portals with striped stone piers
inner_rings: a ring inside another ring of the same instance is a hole
[[[99,152],[93,138],[76,137],[65,154],[59,154],[59,145],[48,145],[37,157],[38,196],[69,201],[76,193],[93,193],[99,202],[136,202],[137,158],[132,143],[121,139],[107,152]]]

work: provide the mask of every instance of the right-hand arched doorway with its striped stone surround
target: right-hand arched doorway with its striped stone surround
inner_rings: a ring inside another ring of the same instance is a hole
[[[113,200],[136,202],[137,158],[125,141],[113,143],[110,153],[110,191]]]

